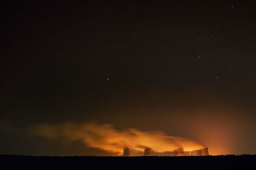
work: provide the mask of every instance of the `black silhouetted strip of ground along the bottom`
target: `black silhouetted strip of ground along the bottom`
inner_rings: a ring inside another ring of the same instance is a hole
[[[256,155],[30,157],[0,155],[0,169],[256,169]]]

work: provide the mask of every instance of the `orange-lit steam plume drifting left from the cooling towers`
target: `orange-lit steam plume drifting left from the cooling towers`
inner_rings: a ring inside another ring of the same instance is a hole
[[[45,138],[79,140],[86,146],[119,155],[124,152],[124,148],[131,148],[135,152],[144,152],[145,148],[151,148],[153,152],[163,153],[179,149],[191,152],[206,147],[191,139],[167,136],[163,132],[143,132],[137,129],[117,131],[109,124],[40,124],[33,127],[33,132]]]

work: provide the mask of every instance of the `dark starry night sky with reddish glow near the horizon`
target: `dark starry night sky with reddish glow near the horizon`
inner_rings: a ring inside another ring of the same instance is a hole
[[[0,153],[104,155],[28,134],[113,124],[256,153],[254,1],[1,1]]]

